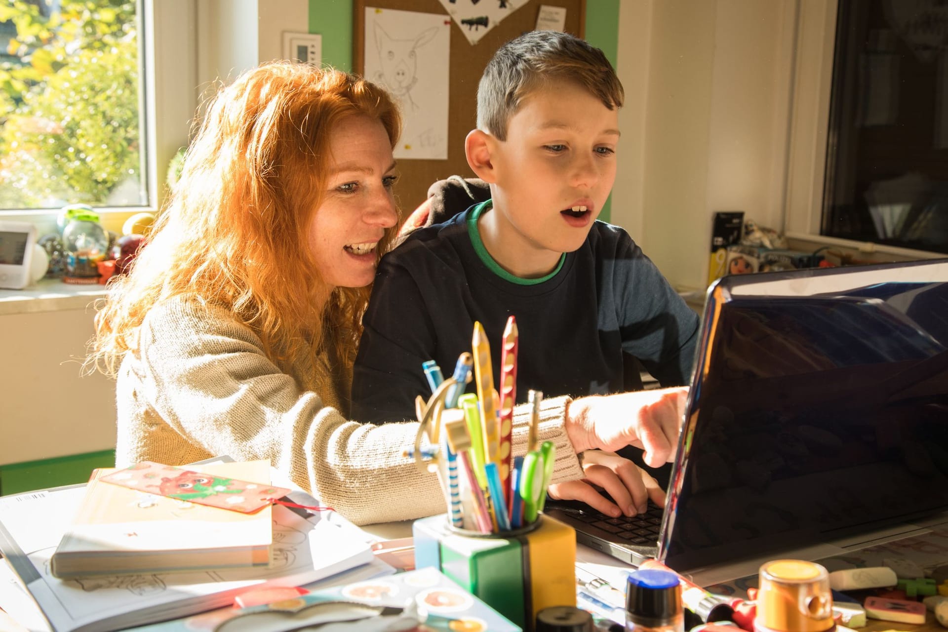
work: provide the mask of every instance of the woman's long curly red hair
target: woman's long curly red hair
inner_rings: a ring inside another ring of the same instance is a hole
[[[233,312],[282,370],[318,352],[351,370],[370,289],[326,287],[309,230],[327,186],[330,131],[357,115],[381,121],[394,146],[397,106],[348,73],[266,63],[218,92],[131,274],[109,284],[87,366],[115,375],[149,308],[187,297]]]

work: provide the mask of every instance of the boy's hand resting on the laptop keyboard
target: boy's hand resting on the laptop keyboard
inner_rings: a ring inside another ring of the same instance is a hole
[[[613,517],[644,514],[648,498],[659,506],[665,504],[665,491],[658,482],[628,459],[612,452],[589,450],[583,453],[582,466],[585,479],[550,485],[550,497],[579,500]],[[597,488],[609,494],[612,502]]]

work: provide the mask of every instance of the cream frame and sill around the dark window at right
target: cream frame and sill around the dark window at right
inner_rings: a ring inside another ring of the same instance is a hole
[[[795,242],[833,245],[902,259],[940,259],[944,253],[820,234],[827,156],[831,151],[830,93],[837,0],[797,0],[793,96],[787,148],[784,231]]]

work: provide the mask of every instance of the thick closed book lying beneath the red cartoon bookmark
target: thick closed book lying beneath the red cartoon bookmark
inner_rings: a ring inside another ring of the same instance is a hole
[[[265,460],[204,465],[162,479],[197,494],[232,479],[270,484]],[[102,480],[117,472],[100,468],[85,488],[80,510],[49,560],[59,579],[139,572],[265,567],[273,541],[272,506],[245,514],[190,502],[187,495],[159,496]],[[182,477],[187,481],[181,481]],[[210,479],[212,477],[212,479]],[[223,485],[222,485],[223,484]],[[163,483],[162,489],[167,486]]]

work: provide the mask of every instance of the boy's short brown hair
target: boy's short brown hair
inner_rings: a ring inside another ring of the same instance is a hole
[[[502,45],[477,88],[477,126],[506,140],[507,123],[529,94],[552,81],[574,81],[610,110],[625,93],[606,55],[569,33],[534,30]]]

